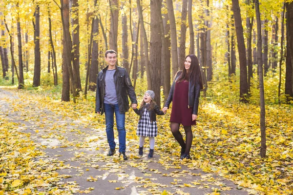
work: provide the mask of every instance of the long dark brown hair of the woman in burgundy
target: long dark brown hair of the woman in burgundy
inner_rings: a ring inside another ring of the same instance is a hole
[[[178,82],[181,82],[183,80],[191,80],[192,82],[196,83],[198,82],[200,84],[200,88],[203,89],[203,81],[201,78],[200,68],[198,59],[194,54],[189,54],[185,57],[184,62],[186,58],[189,57],[191,59],[190,67],[187,73],[187,70],[185,69],[185,65],[183,63],[182,73],[178,78]]]

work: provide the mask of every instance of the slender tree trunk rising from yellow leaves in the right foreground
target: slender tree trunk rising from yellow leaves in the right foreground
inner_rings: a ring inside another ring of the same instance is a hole
[[[258,62],[259,95],[260,95],[260,132],[261,132],[260,156],[264,158],[267,152],[266,124],[265,124],[266,110],[265,110],[264,78],[263,78],[263,68],[262,68],[261,21],[260,21],[258,0],[255,0],[255,13],[256,13],[256,24],[257,24],[257,62]]]

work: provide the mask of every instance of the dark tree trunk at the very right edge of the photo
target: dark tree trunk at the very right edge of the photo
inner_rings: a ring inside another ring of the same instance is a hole
[[[293,3],[285,3],[286,5],[286,34],[287,34],[287,52],[286,52],[286,80],[285,80],[285,95],[287,102],[293,98]]]

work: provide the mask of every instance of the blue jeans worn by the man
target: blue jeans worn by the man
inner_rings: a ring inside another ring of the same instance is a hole
[[[119,152],[125,152],[126,149],[126,130],[125,130],[125,113],[120,114],[118,104],[104,103],[105,117],[106,117],[106,133],[110,149],[115,149],[116,143],[114,141],[114,112],[116,117],[116,125],[119,138]]]

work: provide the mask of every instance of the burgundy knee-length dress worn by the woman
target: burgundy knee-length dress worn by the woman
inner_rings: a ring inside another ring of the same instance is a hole
[[[196,124],[195,120],[192,121],[193,108],[188,108],[188,88],[187,80],[175,83],[170,122],[181,123],[184,126]]]

